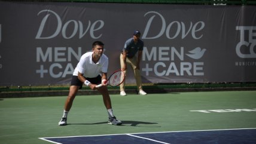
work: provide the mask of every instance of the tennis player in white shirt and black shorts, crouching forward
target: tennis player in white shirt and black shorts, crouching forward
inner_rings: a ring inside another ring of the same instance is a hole
[[[90,87],[92,90],[98,90],[103,97],[104,105],[108,112],[108,124],[121,125],[112,112],[111,99],[106,87],[106,72],[108,71],[108,57],[103,54],[104,44],[100,41],[95,41],[92,44],[92,51],[81,56],[77,67],[74,70],[69,95],[66,99],[63,116],[59,125],[66,125],[68,112],[71,109],[73,100],[77,95],[77,91],[83,87],[83,84]],[[100,76],[101,74],[101,76]],[[96,85],[101,83],[103,86],[96,88]]]

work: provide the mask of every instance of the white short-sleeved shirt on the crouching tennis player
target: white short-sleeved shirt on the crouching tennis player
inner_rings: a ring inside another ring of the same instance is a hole
[[[102,54],[97,63],[93,62],[93,52],[87,52],[81,56],[73,75],[78,76],[78,72],[84,73],[86,78],[95,78],[102,72],[108,72],[108,57]]]

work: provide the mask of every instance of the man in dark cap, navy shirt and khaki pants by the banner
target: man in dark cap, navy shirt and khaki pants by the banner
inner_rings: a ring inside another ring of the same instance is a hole
[[[133,33],[133,38],[130,38],[124,44],[124,48],[121,50],[120,54],[120,64],[121,70],[126,73],[127,64],[132,66],[134,76],[136,79],[137,90],[139,94],[146,95],[145,91],[142,90],[142,82],[141,82],[141,72],[139,70],[139,63],[141,62],[142,51],[144,47],[144,42],[139,39],[141,36],[141,32],[136,30]],[[139,51],[139,52],[138,52]],[[138,57],[136,57],[136,53],[138,52]],[[120,95],[126,96],[126,92],[124,91],[125,81],[120,85]]]

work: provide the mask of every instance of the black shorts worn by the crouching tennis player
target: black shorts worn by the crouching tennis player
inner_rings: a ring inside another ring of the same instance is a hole
[[[101,76],[98,75],[96,78],[86,78],[87,81],[90,81],[92,84],[100,84]],[[71,85],[80,86],[80,89],[83,87],[83,82],[78,79],[78,76],[73,75],[71,80]]]

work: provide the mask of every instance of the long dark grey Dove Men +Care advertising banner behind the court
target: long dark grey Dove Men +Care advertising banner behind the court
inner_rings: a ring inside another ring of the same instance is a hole
[[[255,82],[256,7],[0,2],[0,85],[69,84],[93,41],[108,73],[140,30],[144,83]],[[128,68],[127,83],[135,83]]]

